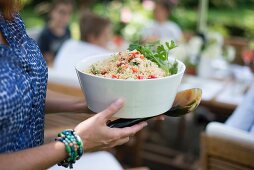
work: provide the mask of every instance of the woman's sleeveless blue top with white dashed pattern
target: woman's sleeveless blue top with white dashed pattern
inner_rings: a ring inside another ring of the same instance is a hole
[[[0,31],[8,45],[0,45],[0,153],[43,143],[47,66],[19,15]]]

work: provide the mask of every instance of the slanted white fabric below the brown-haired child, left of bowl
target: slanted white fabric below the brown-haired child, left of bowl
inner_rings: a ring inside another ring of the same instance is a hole
[[[105,53],[109,53],[109,51],[99,46],[82,41],[68,40],[59,50],[53,68],[48,70],[48,81],[79,87],[75,65],[86,57]]]

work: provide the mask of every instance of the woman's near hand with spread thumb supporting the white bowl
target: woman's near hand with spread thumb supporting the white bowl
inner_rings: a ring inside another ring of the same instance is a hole
[[[109,128],[108,120],[123,106],[123,100],[118,99],[104,111],[81,122],[75,131],[81,137],[86,151],[111,148],[129,141],[147,122],[141,122],[132,127]]]

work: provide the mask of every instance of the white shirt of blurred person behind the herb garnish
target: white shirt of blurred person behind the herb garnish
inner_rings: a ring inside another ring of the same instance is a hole
[[[171,21],[164,23],[152,21],[142,30],[141,34],[144,40],[155,38],[161,41],[173,40],[179,42],[182,38],[182,30],[176,23]]]

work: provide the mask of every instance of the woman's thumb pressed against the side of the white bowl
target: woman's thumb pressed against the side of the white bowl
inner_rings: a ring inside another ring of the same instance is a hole
[[[109,120],[115,113],[117,113],[123,107],[123,99],[118,99],[112,103],[107,109],[99,113],[99,116],[104,120]]]

